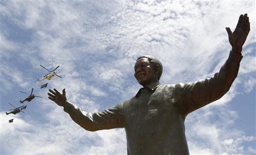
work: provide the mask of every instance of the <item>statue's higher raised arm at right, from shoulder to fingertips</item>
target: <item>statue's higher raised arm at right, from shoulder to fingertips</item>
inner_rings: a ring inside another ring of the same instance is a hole
[[[180,111],[182,111],[181,113],[187,115],[210,102],[218,100],[229,91],[234,79],[236,79],[242,59],[242,46],[250,31],[247,14],[240,15],[234,32],[230,28],[226,28],[226,31],[232,50],[220,71],[214,74],[213,78],[199,80],[195,83],[176,84],[172,87],[175,90],[174,96]]]

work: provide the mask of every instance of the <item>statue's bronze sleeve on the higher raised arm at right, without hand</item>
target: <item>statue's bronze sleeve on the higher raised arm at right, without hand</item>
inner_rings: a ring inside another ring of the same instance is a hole
[[[179,97],[177,104],[181,111],[187,115],[224,96],[237,77],[241,59],[241,53],[230,51],[229,58],[213,78],[195,83],[176,84],[174,89],[176,96]]]

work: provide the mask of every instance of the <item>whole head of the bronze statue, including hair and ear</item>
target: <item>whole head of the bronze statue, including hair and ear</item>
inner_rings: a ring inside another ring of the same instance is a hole
[[[145,87],[147,84],[160,80],[163,66],[155,57],[152,57],[151,55],[142,55],[137,59],[134,70],[135,78],[139,84]]]

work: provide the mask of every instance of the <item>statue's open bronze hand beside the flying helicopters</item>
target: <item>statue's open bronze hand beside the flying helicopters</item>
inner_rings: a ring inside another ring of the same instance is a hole
[[[54,91],[49,89],[49,92],[51,92],[51,93],[48,93],[49,100],[52,100],[59,106],[63,106],[65,101],[67,101],[65,89],[63,89],[62,94],[59,91],[57,91],[56,89],[53,89],[53,90]]]

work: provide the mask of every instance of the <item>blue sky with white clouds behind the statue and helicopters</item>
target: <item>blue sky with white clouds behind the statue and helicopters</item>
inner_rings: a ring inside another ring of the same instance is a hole
[[[251,30],[236,80],[185,120],[191,154],[256,154],[255,1],[1,1],[0,154],[127,154],[123,128],[84,130],[48,89],[66,88],[84,111],[108,109],[141,88],[134,63],[144,54],[162,62],[162,84],[211,78],[231,50],[225,28],[245,13]],[[63,79],[36,81],[48,73],[40,64],[60,66]],[[6,115],[32,88],[43,98]]]

